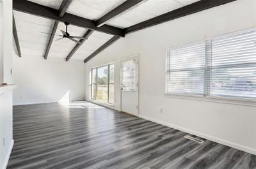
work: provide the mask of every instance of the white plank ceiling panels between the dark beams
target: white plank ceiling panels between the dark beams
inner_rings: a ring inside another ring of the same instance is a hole
[[[60,8],[62,2],[61,0],[29,1],[49,6],[56,10]],[[67,13],[72,13],[79,17],[91,20],[98,20],[125,1],[126,0],[73,0],[68,6]],[[196,1],[199,0],[146,0],[112,20],[109,20],[106,24],[120,28],[129,27],[150,18],[157,17],[168,11],[176,10],[182,6],[195,3]],[[54,21],[19,11],[13,11],[13,14],[15,17],[22,56],[36,55],[43,57],[54,26]],[[60,30],[65,31],[65,25],[61,22],[57,28],[56,34],[61,34]],[[83,36],[86,31],[88,30],[81,27],[68,26],[68,33],[70,33],[71,36]],[[112,37],[113,36],[110,34],[94,31],[71,59],[85,59]],[[56,41],[58,38],[60,37],[54,37],[48,57],[65,59],[72,48],[75,47],[76,43],[66,38]],[[13,45],[13,48],[13,51],[17,52],[15,44]]]

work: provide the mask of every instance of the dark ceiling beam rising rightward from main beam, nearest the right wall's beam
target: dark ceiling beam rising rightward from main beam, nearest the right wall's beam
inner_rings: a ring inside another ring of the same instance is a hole
[[[129,10],[130,8],[132,8],[132,6],[138,5],[142,1],[143,0],[127,0],[127,1],[125,1],[124,3],[117,6],[114,10],[109,11],[109,13],[107,13],[103,17],[99,18],[99,20],[96,21],[96,26],[100,27],[100,26],[104,25],[106,22],[108,22],[108,20],[111,20],[112,18],[117,17],[124,11]]]

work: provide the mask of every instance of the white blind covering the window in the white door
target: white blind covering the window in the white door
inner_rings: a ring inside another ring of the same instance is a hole
[[[122,90],[135,91],[136,89],[136,60],[122,62]]]

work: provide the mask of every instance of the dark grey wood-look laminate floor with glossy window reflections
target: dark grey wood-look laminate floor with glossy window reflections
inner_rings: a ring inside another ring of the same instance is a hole
[[[256,168],[256,156],[92,103],[13,107],[11,168]]]

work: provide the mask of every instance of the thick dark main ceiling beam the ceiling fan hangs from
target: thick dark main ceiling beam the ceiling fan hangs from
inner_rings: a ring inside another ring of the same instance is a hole
[[[24,13],[29,13],[38,17],[49,18],[60,22],[65,22],[65,20],[68,20],[68,22],[73,26],[83,27],[86,29],[92,29],[94,31],[100,31],[102,33],[124,37],[124,29],[108,25],[96,27],[96,22],[94,20],[78,17],[70,13],[65,13],[63,17],[60,17],[58,10],[26,0],[13,0],[13,10],[22,11]]]

